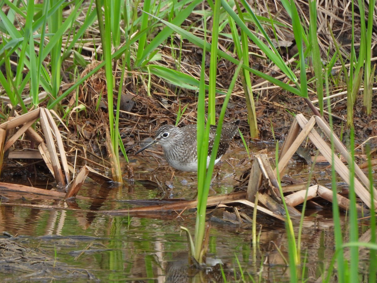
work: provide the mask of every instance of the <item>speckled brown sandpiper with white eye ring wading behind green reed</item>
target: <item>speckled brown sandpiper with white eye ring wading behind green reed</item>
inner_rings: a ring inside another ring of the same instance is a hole
[[[217,151],[215,164],[229,148],[229,143],[237,132],[239,120],[227,122],[222,125],[220,145]],[[215,141],[216,126],[210,126],[208,140],[207,168],[210,162],[212,146]],[[173,125],[165,125],[156,132],[155,139],[140,149],[144,149],[158,143],[164,149],[164,157],[170,166],[181,171],[198,171],[198,149],[196,146],[196,125],[188,125],[178,128]]]

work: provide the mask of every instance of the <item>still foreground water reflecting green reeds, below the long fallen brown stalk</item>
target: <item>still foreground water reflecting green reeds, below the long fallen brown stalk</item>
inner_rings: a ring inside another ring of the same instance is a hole
[[[187,282],[187,278],[199,276],[222,281],[219,265],[212,272],[198,272],[187,265],[187,243],[179,226],[193,227],[189,213],[175,220],[161,220],[128,215],[88,217],[82,212],[1,206],[0,215],[2,231],[31,235],[20,238],[24,245],[43,249],[51,257],[56,252],[58,261],[85,268],[101,280]],[[289,280],[284,260],[288,258],[284,225],[277,221],[265,225],[262,217],[258,222],[261,232],[256,247],[251,246],[249,228],[211,225],[208,256],[221,259],[228,281],[242,272],[255,280]],[[305,278],[316,279],[327,269],[334,253],[332,220],[318,214],[307,218],[304,225],[301,251],[307,266]]]

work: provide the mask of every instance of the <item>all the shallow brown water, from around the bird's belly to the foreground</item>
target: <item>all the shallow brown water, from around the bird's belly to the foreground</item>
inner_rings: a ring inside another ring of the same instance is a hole
[[[213,182],[210,194],[232,191],[238,183],[237,178],[250,167],[250,163],[239,165],[244,156],[245,152],[242,151],[224,156],[227,161],[216,166],[218,177]],[[156,163],[144,157],[130,158],[130,162],[135,170],[135,182],[126,181],[123,186],[113,188],[100,188],[88,182],[79,194],[92,198],[100,196],[100,199],[77,199],[69,203],[56,200],[54,204],[71,209],[101,211],[127,208],[127,200],[153,199],[156,196],[195,197],[195,173],[177,171],[172,178],[172,170],[163,162],[160,168],[152,168],[151,164]],[[146,170],[147,165],[149,168]],[[310,171],[310,166],[302,163],[291,163],[289,168],[289,174],[296,174],[297,178],[307,178]],[[313,175],[321,182],[328,183],[328,174],[323,173],[324,169],[325,166],[317,166]],[[156,181],[156,178],[163,184],[167,182],[166,190],[161,191],[150,183],[140,182]],[[52,204],[51,201],[27,199],[12,202]],[[250,209],[238,209],[250,214]],[[306,215],[301,238],[302,263],[306,266],[303,278],[314,281],[331,264],[334,253],[333,220],[329,208],[307,210]],[[222,265],[215,265],[212,271],[198,272],[187,265],[186,235],[180,230],[180,226],[185,226],[193,234],[195,211],[185,211],[181,215],[155,213],[141,217],[1,205],[1,231],[18,234],[16,241],[32,250],[42,251],[53,261],[64,264],[64,268],[50,268],[43,276],[34,274],[33,268],[21,271],[2,268],[0,272],[3,281],[13,282],[72,281],[72,278],[77,282],[222,282],[222,276],[227,282],[239,281],[242,277],[244,281],[252,281],[251,278],[263,282],[289,281],[290,271],[283,258],[288,259],[284,223],[258,215],[257,233],[260,240],[253,247],[251,223],[231,224],[221,218],[212,219],[208,258],[215,260],[215,263],[221,260]],[[367,230],[362,224],[360,222],[360,234]],[[343,224],[343,228],[346,235],[346,224]]]

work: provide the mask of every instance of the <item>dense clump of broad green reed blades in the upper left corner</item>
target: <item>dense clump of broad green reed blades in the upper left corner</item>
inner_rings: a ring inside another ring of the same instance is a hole
[[[28,82],[30,82],[29,93],[34,106],[39,105],[40,88],[51,94],[52,99],[57,97],[61,85],[61,65],[66,58],[61,55],[62,38],[66,36],[67,30],[80,14],[82,2],[82,0],[75,1],[75,6],[71,7],[72,12],[66,18],[63,18],[62,11],[71,3],[64,0],[57,2],[48,0],[42,4],[34,4],[29,1],[26,6],[23,6],[22,2],[12,3],[8,0],[3,2],[3,5],[9,6],[9,11],[8,14],[0,11],[2,20],[0,28],[3,32],[3,42],[0,44],[2,50],[0,65],[5,65],[7,78],[1,73],[0,83],[2,83],[12,105],[20,103],[23,112],[27,111],[26,105],[23,103],[25,98],[23,94],[28,90]],[[25,22],[24,28],[17,29],[13,25],[15,15],[20,17],[19,23]],[[86,19],[83,25],[87,27],[92,24],[90,19]],[[47,28],[49,33],[46,33]],[[84,28],[79,29],[76,35],[80,36],[84,32]],[[67,36],[71,36],[71,31]],[[47,43],[45,37],[48,37]],[[74,43],[66,48],[66,54],[72,52],[72,48],[74,48]],[[38,51],[36,52],[35,49]],[[17,57],[18,62],[14,76],[10,68],[7,68],[10,66],[9,60],[13,55]],[[44,66],[46,57],[49,57],[50,60]],[[24,67],[26,67],[26,72],[24,72]]]

